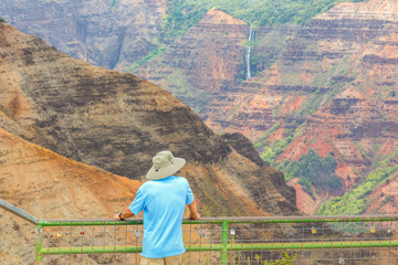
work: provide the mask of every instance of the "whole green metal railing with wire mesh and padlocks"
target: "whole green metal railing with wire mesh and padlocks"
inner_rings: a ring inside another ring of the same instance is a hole
[[[40,221],[1,200],[0,206],[36,226],[36,264],[42,264],[44,256],[61,256],[61,261],[66,256],[126,253],[135,254],[133,264],[139,264],[140,219]],[[296,264],[357,264],[369,259],[398,264],[397,224],[398,215],[184,220],[186,256],[189,256],[186,263],[262,264],[280,261],[289,253]],[[114,258],[115,264],[121,261]],[[124,261],[127,264],[132,257],[125,256]]]

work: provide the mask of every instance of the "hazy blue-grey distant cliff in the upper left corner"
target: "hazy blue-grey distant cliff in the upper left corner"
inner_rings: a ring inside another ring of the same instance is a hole
[[[156,45],[166,1],[6,0],[0,13],[9,24],[75,59],[124,70]]]

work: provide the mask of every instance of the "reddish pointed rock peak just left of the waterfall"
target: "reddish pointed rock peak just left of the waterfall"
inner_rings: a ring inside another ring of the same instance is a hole
[[[161,56],[134,73],[200,109],[243,77],[248,33],[245,22],[212,9]]]

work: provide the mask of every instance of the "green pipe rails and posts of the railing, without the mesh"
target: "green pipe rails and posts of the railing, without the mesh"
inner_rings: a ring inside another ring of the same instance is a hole
[[[353,250],[353,248],[397,248],[398,239],[396,237],[386,237],[386,239],[373,239],[368,237],[366,240],[328,240],[322,239],[322,241],[314,241],[306,239],[301,242],[294,241],[283,241],[282,239],[273,240],[272,242],[251,242],[251,243],[237,243],[231,241],[230,234],[233,229],[230,226],[232,224],[324,224],[324,223],[345,223],[345,224],[355,224],[355,223],[376,223],[376,222],[397,222],[398,215],[356,215],[356,216],[230,216],[230,218],[202,218],[200,220],[184,220],[184,225],[221,225],[219,235],[221,241],[213,244],[190,244],[187,247],[187,252],[220,252],[219,264],[227,265],[229,259],[230,252],[244,252],[244,251],[295,251],[295,250]],[[43,227],[84,227],[84,226],[137,226],[142,225],[142,219],[130,219],[126,221],[115,221],[115,220],[44,220],[38,223],[40,231]],[[369,226],[369,233],[371,232],[373,226]],[[314,227],[312,227],[314,229]],[[384,225],[384,229],[391,229],[391,225]],[[192,230],[192,229],[190,229]],[[314,231],[311,231],[312,234]],[[363,231],[364,233],[364,231]],[[117,237],[116,235],[114,236]],[[104,245],[104,246],[67,246],[67,247],[43,247],[42,237],[39,237],[36,245],[36,262],[40,264],[42,262],[43,255],[60,255],[60,254],[98,254],[98,253],[139,253],[142,246],[127,246],[127,245]]]

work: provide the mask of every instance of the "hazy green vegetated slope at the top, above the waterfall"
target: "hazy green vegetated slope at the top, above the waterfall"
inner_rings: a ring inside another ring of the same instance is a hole
[[[311,18],[329,10],[338,2],[347,0],[170,0],[160,26],[160,41],[171,43],[212,8],[253,25],[305,24]]]

